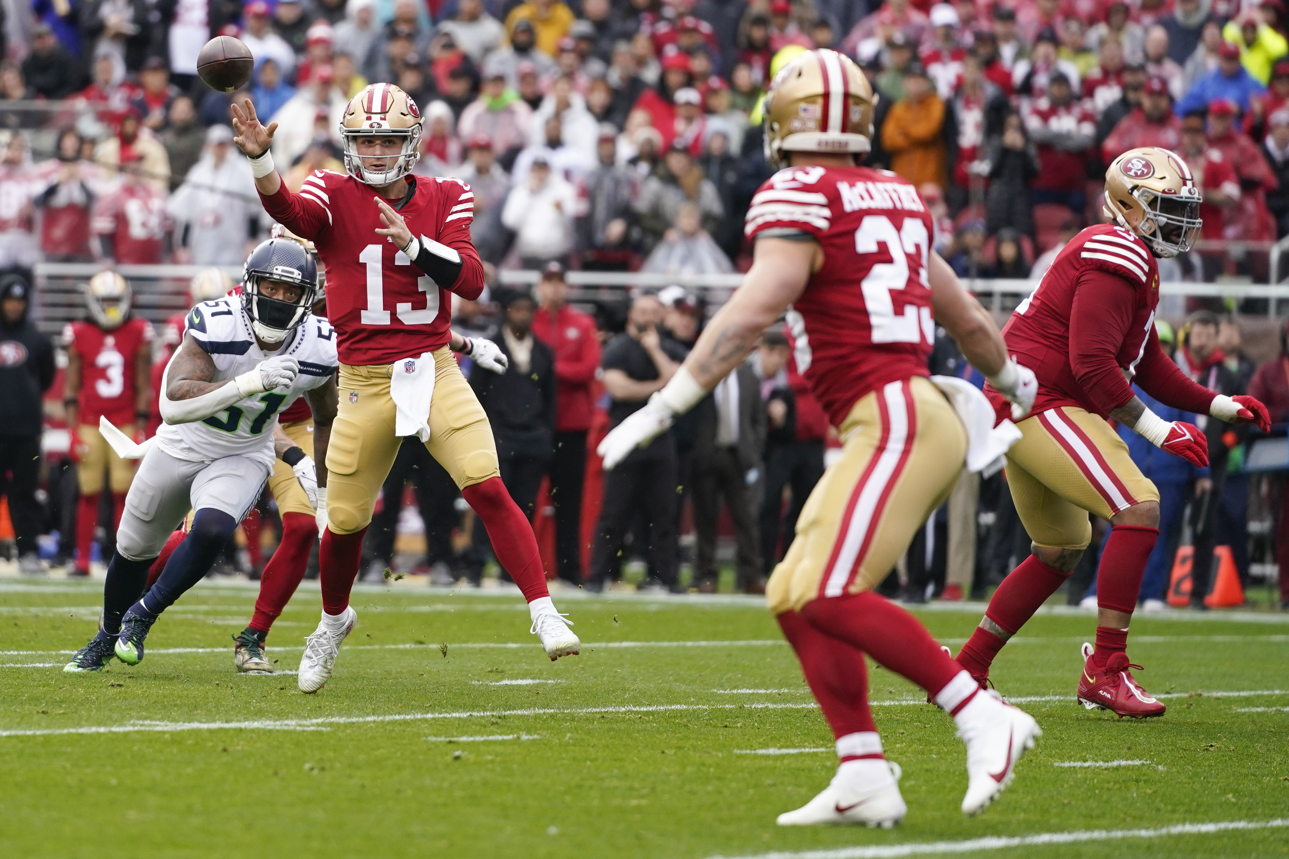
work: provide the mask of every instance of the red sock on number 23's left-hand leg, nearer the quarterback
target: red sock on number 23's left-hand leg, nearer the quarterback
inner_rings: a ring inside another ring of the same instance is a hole
[[[867,666],[864,653],[844,641],[830,637],[809,625],[797,612],[784,612],[777,618],[784,637],[793,645],[802,663],[802,674],[815,694],[824,719],[833,728],[833,737],[877,732],[869,711]],[[847,757],[864,757],[851,755]],[[880,751],[875,757],[880,757]]]

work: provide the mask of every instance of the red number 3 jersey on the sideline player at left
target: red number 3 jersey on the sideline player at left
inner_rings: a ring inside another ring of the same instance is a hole
[[[98,426],[101,416],[117,426],[134,422],[135,362],[152,336],[152,323],[138,317],[115,331],[103,331],[93,322],[72,322],[63,328],[67,352],[81,359],[81,424]]]

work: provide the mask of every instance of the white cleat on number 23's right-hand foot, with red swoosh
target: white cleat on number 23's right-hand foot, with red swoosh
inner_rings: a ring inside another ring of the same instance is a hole
[[[971,708],[969,715],[965,711]],[[1027,712],[990,695],[977,694],[959,715],[958,735],[967,743],[967,795],[963,814],[980,814],[998,798],[1016,774],[1016,762],[1043,735]],[[963,724],[965,722],[965,724]]]

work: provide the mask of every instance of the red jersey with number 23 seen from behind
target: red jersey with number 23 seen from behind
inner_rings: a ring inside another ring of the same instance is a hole
[[[807,233],[824,249],[788,327],[834,426],[870,390],[929,375],[932,220],[907,180],[870,167],[780,170],[751,198],[744,232]]]

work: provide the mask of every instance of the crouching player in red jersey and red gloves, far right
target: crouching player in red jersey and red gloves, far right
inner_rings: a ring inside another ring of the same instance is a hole
[[[1083,645],[1078,698],[1089,710],[1161,716],[1133,679],[1128,623],[1155,540],[1159,492],[1106,422],[1112,417],[1194,465],[1208,465],[1204,433],[1167,422],[1132,393],[1227,422],[1270,429],[1252,397],[1214,394],[1159,345],[1156,259],[1187,250],[1200,232],[1201,194],[1186,162],[1156,147],[1129,149],[1106,171],[1105,214],[1057,255],[1003,328],[1009,353],[1032,367],[1039,395],[1007,453],[1007,483],[1032,554],[1003,580],[958,661],[981,684],[1003,644],[1074,572],[1092,538],[1088,513],[1112,529],[1097,571],[1096,647]],[[986,393],[990,393],[986,388]],[[991,393],[1002,416],[1003,398]]]

